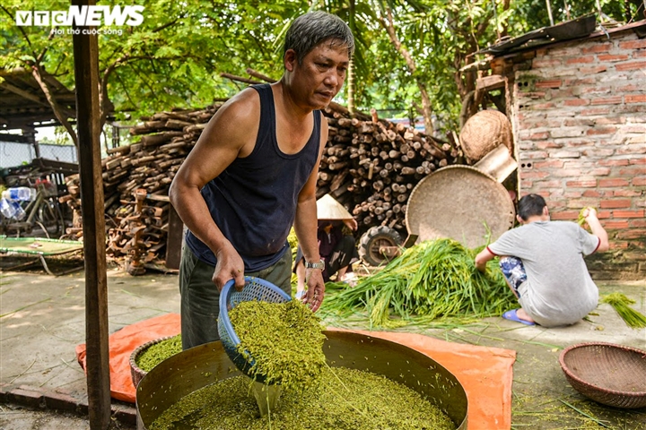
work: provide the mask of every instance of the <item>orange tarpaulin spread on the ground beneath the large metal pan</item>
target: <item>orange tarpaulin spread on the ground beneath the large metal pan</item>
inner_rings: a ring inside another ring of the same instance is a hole
[[[511,379],[516,351],[452,343],[415,333],[354,332],[414,348],[446,367],[467,391],[469,430],[511,428]],[[130,355],[145,342],[178,333],[179,314],[158,316],[112,333],[109,336],[112,397],[134,403],[136,391],[130,376]],[[85,344],[76,347],[76,356],[85,368]]]

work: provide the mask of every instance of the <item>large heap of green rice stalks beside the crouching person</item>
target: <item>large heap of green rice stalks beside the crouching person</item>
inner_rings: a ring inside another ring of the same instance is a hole
[[[387,328],[500,315],[516,305],[516,298],[497,258],[487,263],[485,273],[477,271],[477,252],[448,238],[423,241],[356,287],[329,288],[322,309],[348,315],[363,308],[371,326]]]

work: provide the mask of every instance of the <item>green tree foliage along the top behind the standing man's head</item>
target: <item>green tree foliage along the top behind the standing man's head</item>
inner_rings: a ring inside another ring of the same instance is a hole
[[[247,67],[279,78],[283,72],[284,31],[301,13],[322,9],[351,22],[357,39],[354,58],[356,106],[396,109],[383,116],[411,116],[419,104],[415,78],[428,86],[433,112],[448,126],[457,124],[467,88],[459,68],[479,59],[474,53],[501,34],[519,36],[548,26],[546,2],[519,0],[101,0],[100,5],[144,5],[144,22],[102,30],[123,34],[99,37],[100,75],[117,118],[137,118],[172,107],[204,107],[230,97],[243,84],[220,73],[246,76]],[[554,22],[596,12],[595,0],[553,3]],[[564,4],[568,4],[565,9]],[[626,20],[635,2],[600,0],[604,17]],[[637,2],[638,3],[638,2]],[[63,0],[4,0],[0,5],[0,72],[41,64],[74,89],[72,36],[52,35],[49,27],[17,27],[18,10],[67,10]],[[495,9],[494,9],[495,7]],[[397,38],[411,53],[411,73],[379,18],[392,13]],[[2,82],[2,77],[0,77]],[[347,86],[345,87],[347,91]],[[346,93],[339,95],[344,102]]]

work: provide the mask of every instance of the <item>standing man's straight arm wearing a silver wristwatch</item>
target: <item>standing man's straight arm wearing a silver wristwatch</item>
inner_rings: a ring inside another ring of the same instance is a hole
[[[298,237],[299,245],[306,262],[319,262],[319,239],[317,237],[317,206],[316,206],[316,183],[319,177],[319,163],[321,154],[327,143],[327,119],[321,116],[321,135],[319,159],[312,169],[310,177],[303,186],[298,197],[296,206],[296,217],[294,219],[294,232]],[[307,294],[305,303],[310,304],[313,312],[319,309],[323,303],[325,294],[325,282],[323,275],[318,269],[306,269],[305,279],[307,283]]]

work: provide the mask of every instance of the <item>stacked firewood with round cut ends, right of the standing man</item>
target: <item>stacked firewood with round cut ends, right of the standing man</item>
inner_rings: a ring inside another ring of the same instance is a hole
[[[354,214],[359,233],[373,226],[406,230],[406,202],[415,185],[461,152],[406,127],[372,116],[350,117],[327,107],[327,148],[319,166],[317,197],[330,193]]]

